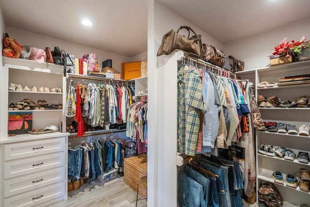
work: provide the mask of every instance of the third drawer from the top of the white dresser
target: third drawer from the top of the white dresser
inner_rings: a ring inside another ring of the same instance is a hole
[[[39,188],[64,181],[64,166],[61,168],[37,173],[33,175],[18,177],[4,181],[4,198],[24,193],[27,191],[37,190]]]

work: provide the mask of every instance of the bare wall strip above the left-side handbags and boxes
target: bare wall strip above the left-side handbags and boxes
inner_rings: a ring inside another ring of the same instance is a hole
[[[51,50],[54,50],[54,47],[58,46],[60,49],[63,49],[67,53],[72,54],[78,58],[81,58],[85,54],[94,52],[97,56],[99,68],[102,68],[103,61],[111,59],[112,67],[115,69],[115,71],[117,71],[115,73],[122,72],[122,63],[135,61],[134,58],[110,53],[96,48],[78,45],[76,43],[63,41],[45,35],[16,29],[13,27],[7,27],[6,32],[9,33],[10,37],[15,38],[21,45],[33,45],[34,47],[41,49],[50,47]]]

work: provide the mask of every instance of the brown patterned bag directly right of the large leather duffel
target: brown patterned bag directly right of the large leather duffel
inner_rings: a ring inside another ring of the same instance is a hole
[[[225,55],[222,50],[217,49],[212,45],[202,45],[204,56],[203,60],[219,67],[224,68],[225,66]]]

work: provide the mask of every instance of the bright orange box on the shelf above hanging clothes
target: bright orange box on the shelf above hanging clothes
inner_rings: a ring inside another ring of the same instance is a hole
[[[122,79],[132,80],[141,77],[141,61],[122,63]]]

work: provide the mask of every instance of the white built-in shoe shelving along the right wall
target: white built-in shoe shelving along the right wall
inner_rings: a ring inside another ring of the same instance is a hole
[[[308,74],[310,61],[295,62],[290,64],[279,64],[270,67],[258,68],[251,71],[237,72],[241,79],[254,80],[256,86],[263,81],[278,82],[279,79],[287,75]],[[278,87],[255,87],[256,97],[259,95],[265,97],[276,96],[279,101],[296,100],[300,96],[310,96],[310,84],[294,84]],[[310,126],[310,108],[280,108],[280,107],[260,107],[260,112],[264,122],[276,122],[295,125]],[[295,154],[294,160],[272,157],[258,153],[261,144],[273,145],[276,149],[284,146],[291,149]],[[301,168],[310,170],[310,164],[299,162],[297,155],[300,151],[310,154],[310,136],[298,134],[277,133],[268,131],[256,131],[256,188],[266,181],[274,183],[280,191],[283,200],[293,205],[299,206],[302,204],[310,205],[310,193],[302,191],[299,186],[295,189],[287,186],[285,183],[286,175],[294,175]],[[278,184],[273,181],[271,175],[274,171],[279,171],[283,174],[283,184]],[[298,174],[296,178],[298,179]],[[256,195],[258,198],[258,194]]]

